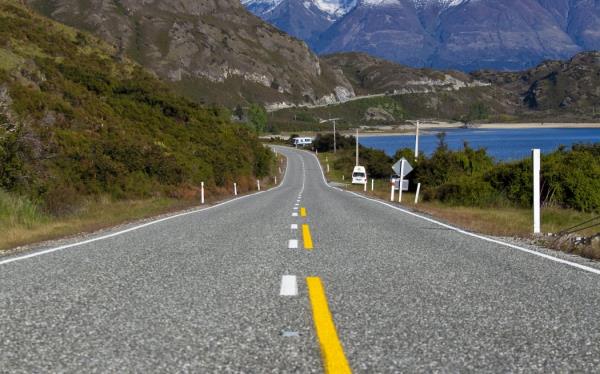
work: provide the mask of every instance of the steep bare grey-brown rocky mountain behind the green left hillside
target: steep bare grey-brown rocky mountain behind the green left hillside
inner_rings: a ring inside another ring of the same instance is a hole
[[[238,0],[28,0],[43,14],[95,33],[123,56],[200,102],[327,102],[352,95],[305,43]]]

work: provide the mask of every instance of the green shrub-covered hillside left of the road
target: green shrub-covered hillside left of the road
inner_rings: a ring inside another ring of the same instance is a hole
[[[229,117],[86,33],[0,3],[0,188],[50,214],[266,176],[272,153]]]

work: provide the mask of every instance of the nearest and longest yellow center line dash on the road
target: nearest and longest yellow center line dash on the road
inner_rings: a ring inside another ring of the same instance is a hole
[[[344,349],[335,330],[321,278],[309,277],[306,278],[306,283],[308,284],[308,295],[313,309],[315,330],[321,345],[325,373],[351,373],[350,365],[348,365]]]

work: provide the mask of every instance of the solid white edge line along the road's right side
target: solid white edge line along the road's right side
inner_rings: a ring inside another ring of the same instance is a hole
[[[571,262],[571,261],[568,261],[568,260],[563,260],[562,258],[558,258],[558,257],[554,257],[554,256],[551,256],[551,255],[547,255],[545,253],[534,251],[532,249],[528,249],[528,248],[524,248],[524,247],[519,247],[518,245],[509,244],[509,243],[506,243],[506,242],[503,242],[503,241],[500,241],[500,240],[497,240],[497,239],[492,239],[492,238],[488,238],[486,236],[474,234],[472,232],[468,232],[468,231],[465,231],[463,229],[459,229],[458,227],[450,226],[450,225],[442,223],[440,221],[436,221],[434,219],[422,216],[420,214],[408,211],[406,209],[402,209],[402,208],[399,208],[397,206],[388,204],[388,203],[386,203],[384,201],[375,200],[375,199],[372,199],[370,197],[366,197],[366,196],[363,196],[361,194],[357,194],[355,192],[344,191],[342,189],[339,189],[339,188],[336,188],[336,187],[332,187],[332,186],[329,185],[329,183],[327,183],[327,179],[325,178],[325,173],[323,172],[323,167],[321,166],[321,163],[319,162],[319,159],[317,158],[317,156],[315,156],[314,154],[312,154],[312,153],[310,153],[308,151],[304,151],[304,152],[307,152],[308,154],[312,155],[317,160],[317,164],[319,165],[319,169],[321,170],[321,176],[323,177],[323,182],[325,183],[325,185],[327,187],[329,187],[329,188],[331,188],[333,190],[337,190],[337,191],[340,191],[340,192],[348,192],[349,194],[355,195],[355,196],[360,197],[362,199],[365,199],[365,200],[368,200],[368,201],[371,201],[371,202],[374,202],[374,203],[377,203],[377,204],[385,205],[385,206],[387,206],[389,208],[395,209],[397,211],[400,211],[402,213],[408,214],[408,215],[416,217],[416,218],[420,218],[420,219],[425,220],[427,222],[434,223],[436,225],[445,227],[445,228],[450,229],[452,231],[456,231],[456,232],[458,232],[460,234],[463,234],[463,235],[467,235],[467,236],[470,236],[470,237],[473,237],[473,238],[481,239],[481,240],[484,240],[486,242],[490,242],[490,243],[494,243],[494,244],[499,244],[499,245],[502,245],[502,246],[505,246],[505,247],[517,249],[519,251],[522,251],[522,252],[525,252],[525,253],[529,253],[529,254],[532,254],[532,255],[535,255],[535,256],[539,256],[539,257],[545,258],[545,259],[550,260],[550,261],[558,262],[559,264],[564,264],[564,265],[572,266],[572,267],[580,269],[580,270],[584,270],[584,271],[587,271],[587,272],[590,272],[590,273],[593,273],[593,274],[600,275],[600,269],[596,269],[596,268],[593,268],[593,267],[581,265],[581,264],[578,264],[576,262]]]

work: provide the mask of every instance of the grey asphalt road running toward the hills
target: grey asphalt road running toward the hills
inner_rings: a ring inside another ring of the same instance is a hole
[[[600,274],[336,190],[280,151],[276,189],[0,258],[0,372],[600,370]]]

